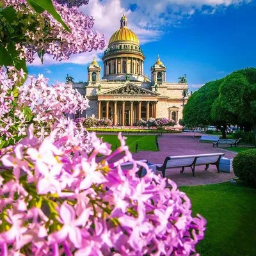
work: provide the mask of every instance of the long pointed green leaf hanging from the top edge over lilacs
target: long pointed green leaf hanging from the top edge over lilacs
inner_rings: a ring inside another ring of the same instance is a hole
[[[27,0],[28,4],[38,13],[44,12],[46,10],[49,12],[54,19],[56,19],[68,32],[71,32],[68,26],[63,22],[60,14],[56,12],[54,5],[51,0]]]

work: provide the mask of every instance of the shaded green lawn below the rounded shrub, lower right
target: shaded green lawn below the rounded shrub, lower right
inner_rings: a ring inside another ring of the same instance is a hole
[[[256,189],[241,182],[183,186],[194,213],[207,220],[205,239],[197,246],[202,256],[256,255]]]

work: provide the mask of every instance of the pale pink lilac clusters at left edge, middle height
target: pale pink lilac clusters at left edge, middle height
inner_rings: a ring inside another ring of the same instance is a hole
[[[39,129],[37,135],[40,138],[56,127],[65,130],[68,124],[65,115],[84,111],[88,107],[88,99],[77,90],[64,83],[48,86],[48,79],[42,75],[29,77],[25,84],[16,89],[18,96],[13,97],[15,82],[19,82],[22,76],[23,70],[9,67],[7,73],[3,67],[0,68],[1,147],[15,143],[26,135],[31,121]]]

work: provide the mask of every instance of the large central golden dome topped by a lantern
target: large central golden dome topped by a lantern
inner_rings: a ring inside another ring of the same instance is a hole
[[[121,28],[118,29],[111,38],[109,39],[109,44],[112,44],[113,42],[118,42],[118,41],[131,41],[136,44],[140,44],[140,41],[138,39],[138,36],[131,31],[131,29],[127,28],[127,18],[125,15],[122,16],[121,20]]]

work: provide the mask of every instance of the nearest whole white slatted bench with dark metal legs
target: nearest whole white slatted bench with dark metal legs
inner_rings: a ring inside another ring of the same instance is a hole
[[[199,165],[205,165],[205,170],[208,170],[209,165],[213,164],[216,166],[218,172],[219,163],[221,156],[224,156],[224,153],[213,153],[213,154],[201,154],[201,155],[190,155],[190,156],[168,156],[164,160],[163,164],[156,164],[156,170],[163,173],[165,177],[166,169],[179,168],[181,167],[180,173],[184,172],[184,168],[190,167],[195,177],[195,167]]]

